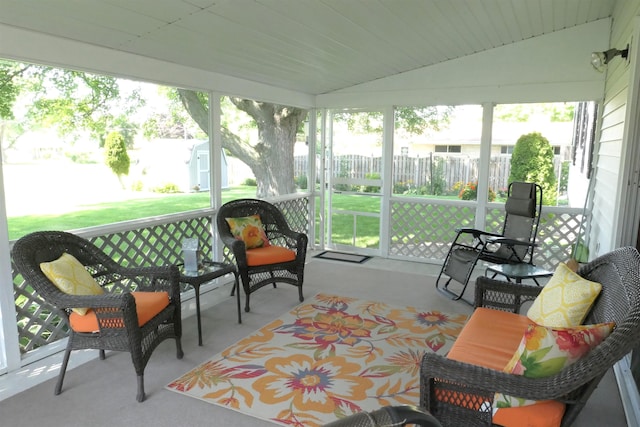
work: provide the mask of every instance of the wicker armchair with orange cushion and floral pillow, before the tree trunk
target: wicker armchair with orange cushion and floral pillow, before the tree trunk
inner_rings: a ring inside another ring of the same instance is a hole
[[[308,237],[292,230],[282,212],[273,204],[257,199],[238,199],[225,203],[216,216],[220,239],[235,260],[245,293],[245,311],[250,295],[277,283],[298,288],[304,301],[302,284]],[[233,296],[235,287],[231,292]],[[238,289],[238,292],[240,290]]]

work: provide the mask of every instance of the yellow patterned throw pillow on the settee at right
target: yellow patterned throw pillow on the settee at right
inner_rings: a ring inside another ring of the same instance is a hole
[[[549,283],[533,301],[527,317],[538,325],[553,328],[578,326],[601,290],[600,283],[586,280],[560,263]]]

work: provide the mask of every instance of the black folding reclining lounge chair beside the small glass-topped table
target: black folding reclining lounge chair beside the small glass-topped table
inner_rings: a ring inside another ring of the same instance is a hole
[[[541,210],[542,187],[529,182],[509,184],[502,232],[458,229],[438,274],[436,289],[455,300],[461,299],[478,261],[533,264]],[[443,275],[448,279],[441,285]],[[451,280],[461,283],[462,290],[450,289]]]

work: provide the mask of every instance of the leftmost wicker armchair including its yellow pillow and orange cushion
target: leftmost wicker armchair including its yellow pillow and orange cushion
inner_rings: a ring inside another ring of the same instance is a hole
[[[69,330],[55,394],[62,391],[73,350],[127,351],[145,399],[144,369],[154,349],[175,339],[183,357],[179,273],[176,266],[125,267],[88,240],[62,231],[28,234],[13,246],[25,282],[60,313]]]

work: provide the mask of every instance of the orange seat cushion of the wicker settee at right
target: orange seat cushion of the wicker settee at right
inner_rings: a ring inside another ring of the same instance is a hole
[[[531,320],[526,316],[477,308],[447,358],[502,371],[518,349],[529,324]],[[502,408],[494,415],[493,423],[504,427],[557,427],[564,410],[564,403],[554,400]]]

